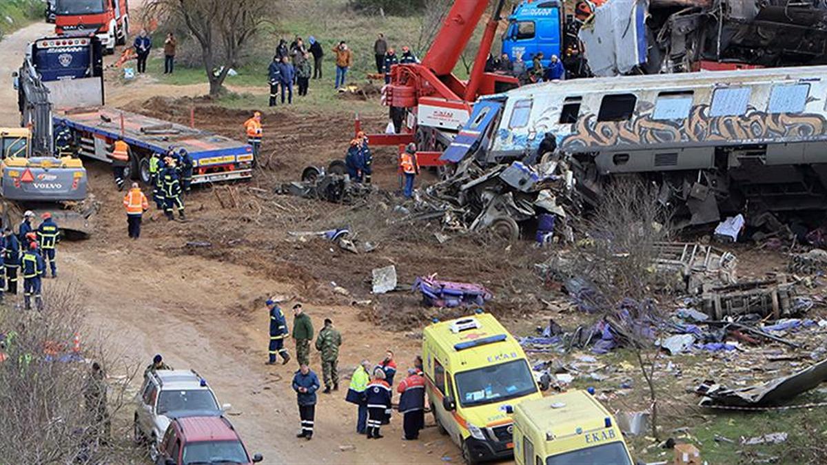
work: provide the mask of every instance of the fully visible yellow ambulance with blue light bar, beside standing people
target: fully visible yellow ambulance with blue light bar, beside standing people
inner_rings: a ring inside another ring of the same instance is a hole
[[[481,311],[431,324],[423,332],[423,369],[437,427],[466,463],[510,458],[514,406],[543,396],[514,336]]]

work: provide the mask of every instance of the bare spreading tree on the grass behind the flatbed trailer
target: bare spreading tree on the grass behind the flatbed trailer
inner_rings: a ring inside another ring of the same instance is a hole
[[[201,46],[209,93],[218,95],[241,51],[269,21],[264,12],[270,7],[269,0],[149,0],[146,12],[184,22]]]

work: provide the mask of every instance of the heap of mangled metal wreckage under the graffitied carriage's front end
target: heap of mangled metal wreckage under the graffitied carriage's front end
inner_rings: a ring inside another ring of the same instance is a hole
[[[566,219],[580,212],[573,174],[562,160],[538,165],[521,161],[482,168],[473,159],[462,161],[447,180],[418,197],[414,218],[442,218],[450,230],[494,230],[517,240],[521,232],[536,229],[540,243],[573,232]],[[433,214],[432,214],[433,213]]]

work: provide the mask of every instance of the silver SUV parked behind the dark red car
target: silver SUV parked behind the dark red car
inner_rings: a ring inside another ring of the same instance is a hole
[[[194,370],[147,372],[136,403],[134,440],[146,444],[153,463],[158,459],[160,440],[173,419],[219,416],[231,408],[229,404],[218,406],[215,393]]]

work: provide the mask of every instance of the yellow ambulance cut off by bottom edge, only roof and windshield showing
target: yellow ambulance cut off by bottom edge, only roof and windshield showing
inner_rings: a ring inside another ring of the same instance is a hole
[[[617,422],[593,395],[568,391],[517,405],[518,465],[632,465]]]

